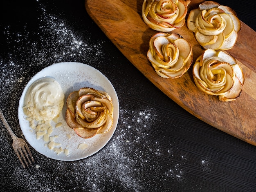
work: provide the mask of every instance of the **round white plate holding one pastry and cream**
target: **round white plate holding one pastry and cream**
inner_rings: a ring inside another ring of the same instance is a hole
[[[67,107],[64,104],[62,113],[58,118],[58,122],[61,122],[62,126],[54,128],[51,136],[58,136],[54,139],[54,142],[61,143],[58,148],[67,148],[69,150],[69,155],[66,156],[64,152],[56,154],[54,150],[50,150],[49,147],[45,146],[45,141],[43,138],[36,138],[36,133],[29,127],[29,121],[26,120],[26,115],[22,109],[22,107],[24,107],[24,98],[27,89],[32,83],[43,77],[55,78],[58,83],[60,83],[63,92],[65,93],[65,100],[71,92],[77,91],[82,87],[92,87],[94,89],[107,92],[112,98],[114,107],[114,124],[112,129],[105,134],[97,134],[96,136],[88,139],[79,137],[76,135],[73,129],[68,127],[65,121],[65,111]],[[26,85],[19,101],[18,118],[23,135],[31,147],[33,147],[36,151],[52,159],[61,161],[75,161],[91,156],[92,154],[101,150],[108,143],[117,127],[119,118],[119,102],[114,87],[106,76],[104,76],[97,69],[83,63],[57,63],[38,72]],[[67,137],[67,134],[71,135],[70,139]],[[81,143],[86,143],[88,147],[84,150],[78,149],[79,144]]]

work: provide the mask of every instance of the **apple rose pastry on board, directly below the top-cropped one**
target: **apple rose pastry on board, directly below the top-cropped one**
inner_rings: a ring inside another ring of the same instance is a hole
[[[152,36],[147,57],[157,74],[164,78],[182,76],[193,61],[190,43],[175,33]]]

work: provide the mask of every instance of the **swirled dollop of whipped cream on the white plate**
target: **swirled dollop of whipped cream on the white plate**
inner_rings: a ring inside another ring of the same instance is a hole
[[[36,80],[25,95],[25,114],[36,121],[49,121],[60,114],[64,105],[61,85],[50,77]]]

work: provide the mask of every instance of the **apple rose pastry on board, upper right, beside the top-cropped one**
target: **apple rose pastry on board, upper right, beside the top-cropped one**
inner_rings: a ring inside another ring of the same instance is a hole
[[[236,12],[214,1],[205,1],[191,10],[187,24],[204,49],[214,50],[231,49],[241,29]]]

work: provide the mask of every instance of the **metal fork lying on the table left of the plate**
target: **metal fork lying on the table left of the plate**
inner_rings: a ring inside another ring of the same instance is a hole
[[[11,130],[11,127],[7,123],[1,109],[0,109],[0,118],[2,119],[2,122],[4,123],[4,126],[7,128],[9,134],[11,135],[11,138],[13,140],[12,147],[13,147],[14,151],[16,152],[18,158],[20,159],[20,162],[23,165],[23,167],[26,168],[26,165],[28,167],[29,164],[30,165],[32,164],[32,162],[35,164],[35,160],[34,160],[32,154],[29,150],[29,147],[27,146],[27,143],[24,141],[24,139],[18,138],[13,133],[13,131]]]

